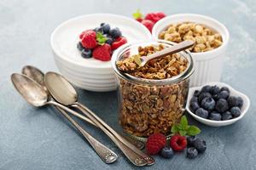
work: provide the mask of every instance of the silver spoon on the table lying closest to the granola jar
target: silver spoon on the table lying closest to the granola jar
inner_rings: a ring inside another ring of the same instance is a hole
[[[88,116],[92,122],[96,123],[96,125],[100,127],[102,131],[106,133],[115,144],[117,144],[117,146],[119,146],[119,149],[123,151],[125,156],[127,156],[127,149],[129,149],[129,154],[131,154],[131,151],[136,153],[140,159],[130,159],[130,161],[132,161],[135,165],[137,165],[138,162],[142,164],[146,163],[148,165],[154,164],[154,159],[151,156],[146,155],[142,150],[138,150],[136,146],[120,136],[119,133],[116,133],[112,127],[109,127],[108,124],[103,122],[102,119],[96,116],[95,113],[90,111],[86,106],[80,104],[78,102],[78,94],[76,90],[64,77],[55,72],[47,72],[44,78],[45,86],[48,88],[49,93],[55,98],[56,101],[63,105],[76,107],[82,111],[84,115]],[[127,157],[129,159],[129,156]]]

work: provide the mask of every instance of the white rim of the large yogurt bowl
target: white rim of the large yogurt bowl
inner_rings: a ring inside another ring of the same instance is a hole
[[[73,17],[73,18],[71,18],[69,20],[65,20],[65,21],[61,22],[61,24],[58,25],[57,27],[55,27],[54,31],[52,31],[52,33],[50,34],[50,40],[49,41],[50,41],[50,47],[52,48],[52,50],[54,52],[54,57],[57,57],[59,59],[64,59],[65,61],[67,61],[68,63],[71,63],[73,65],[78,65],[78,66],[86,67],[86,68],[89,68],[89,69],[90,68],[91,69],[111,68],[111,60],[107,61],[107,62],[109,62],[109,65],[106,65],[106,66],[101,66],[101,65],[94,65],[94,66],[92,66],[92,65],[82,65],[81,63],[74,62],[72,59],[61,57],[60,50],[57,50],[57,48],[55,48],[54,37],[55,37],[56,32],[58,32],[61,29],[62,26],[67,25],[67,23],[72,22],[73,20],[79,20],[79,19],[82,19],[82,18],[102,16],[102,15],[104,15],[104,17],[113,17],[113,18],[120,18],[120,19],[123,19],[123,20],[129,20],[132,23],[136,24],[137,26],[140,26],[143,29],[145,35],[147,35],[148,38],[150,38],[150,39],[152,38],[150,31],[148,31],[148,29],[145,26],[143,26],[141,23],[137,22],[137,20],[132,20],[131,18],[126,17],[124,15],[109,14],[109,13],[84,14],[84,15],[79,15],[79,16]]]

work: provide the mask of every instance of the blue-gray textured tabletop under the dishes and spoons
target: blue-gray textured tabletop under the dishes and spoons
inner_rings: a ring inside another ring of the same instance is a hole
[[[201,127],[207,152],[195,160],[177,154],[172,160],[155,156],[153,167],[143,169],[256,169],[256,3],[227,1],[0,1],[0,169],[133,169],[114,144],[99,130],[83,126],[108,147],[119,160],[104,164],[90,145],[75,133],[62,116],[47,107],[35,109],[15,92],[9,76],[23,65],[57,71],[49,47],[49,35],[62,21],[81,14],[113,13],[131,16],[137,8],[166,14],[207,14],[230,30],[230,47],[223,82],[247,94],[252,105],[247,115],[228,127]],[[79,90],[81,102],[119,129],[116,93]],[[120,130],[120,129],[119,129]]]

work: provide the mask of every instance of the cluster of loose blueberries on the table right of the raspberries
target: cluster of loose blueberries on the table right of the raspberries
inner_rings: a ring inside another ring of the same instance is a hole
[[[195,158],[199,153],[203,153],[207,150],[207,143],[203,139],[199,139],[195,136],[189,136],[187,141],[187,157],[190,159]]]

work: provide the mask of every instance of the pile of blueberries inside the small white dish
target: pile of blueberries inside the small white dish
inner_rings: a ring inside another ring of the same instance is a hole
[[[197,116],[213,121],[225,121],[241,115],[241,97],[230,96],[230,89],[204,86],[195,90],[189,108]]]

